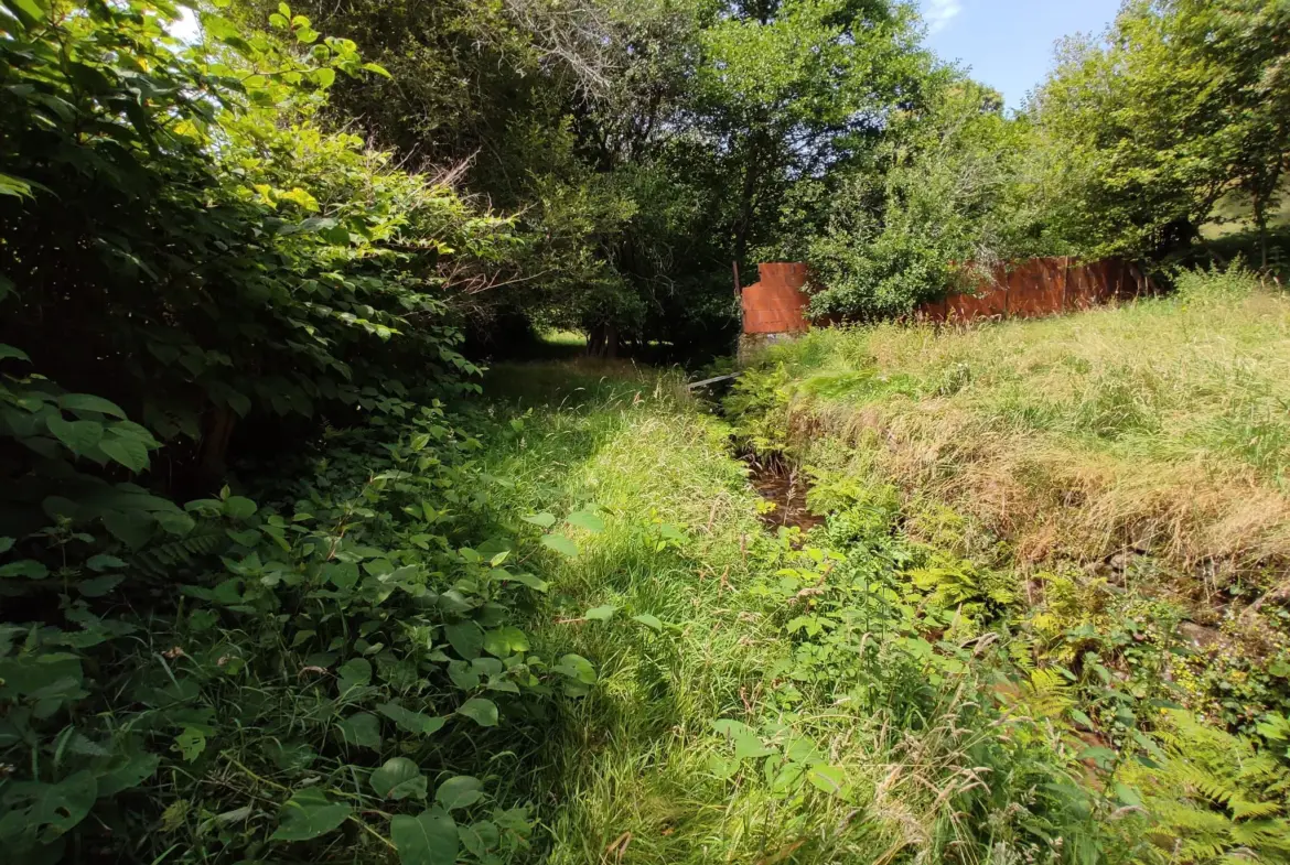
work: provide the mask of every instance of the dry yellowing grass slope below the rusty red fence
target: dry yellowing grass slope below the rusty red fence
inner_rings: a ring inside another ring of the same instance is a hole
[[[1253,277],[1042,321],[818,331],[771,360],[797,441],[858,445],[1022,561],[1290,561],[1290,299]]]

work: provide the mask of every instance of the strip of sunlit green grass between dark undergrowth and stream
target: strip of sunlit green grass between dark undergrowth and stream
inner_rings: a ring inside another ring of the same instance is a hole
[[[768,672],[795,643],[783,610],[751,590],[774,574],[783,547],[757,518],[729,428],[690,405],[673,376],[619,371],[494,371],[494,385],[508,379],[499,415],[522,419],[486,443],[490,473],[515,482],[503,508],[519,520],[595,503],[606,522],[599,535],[570,531],[577,558],[542,562],[548,605],[526,628],[538,647],[591,659],[600,677],[551,719],[516,780],[535,792],[547,821],[535,842],[542,861],[824,865],[944,861],[951,850],[984,861],[969,839],[988,828],[962,825],[951,804],[979,766],[973,743],[997,735],[952,721],[975,691],[947,692],[912,722],[917,732],[853,705],[851,681],[786,699],[797,688]],[[516,400],[533,411],[516,413]],[[664,526],[682,540],[664,543]],[[602,606],[617,614],[584,615]],[[663,630],[632,620],[641,614]],[[720,718],[809,739],[850,793],[777,789],[760,763],[722,776],[713,768],[729,755],[712,728]]]

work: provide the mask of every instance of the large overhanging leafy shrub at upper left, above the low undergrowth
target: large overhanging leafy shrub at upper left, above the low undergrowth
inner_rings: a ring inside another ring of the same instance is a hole
[[[0,333],[184,442],[177,480],[209,485],[240,418],[370,411],[406,392],[400,358],[468,370],[440,272],[489,258],[504,223],[320,130],[337,72],[374,73],[352,43],[284,19],[297,55],[206,14],[210,41],[182,46],[169,14],[6,23],[4,159],[27,192],[3,202]]]

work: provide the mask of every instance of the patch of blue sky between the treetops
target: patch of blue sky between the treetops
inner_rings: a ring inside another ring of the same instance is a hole
[[[1075,32],[1100,34],[1120,0],[920,0],[928,46],[1001,90],[1009,108],[1044,80],[1053,43]]]

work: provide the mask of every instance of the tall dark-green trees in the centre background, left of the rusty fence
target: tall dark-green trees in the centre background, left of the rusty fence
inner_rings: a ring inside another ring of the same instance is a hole
[[[471,303],[580,327],[593,352],[728,348],[731,262],[753,272],[791,191],[930,86],[911,10],[886,0],[308,12],[396,77],[342,81],[346,117],[437,165],[473,153],[467,187],[521,210],[512,278]]]

